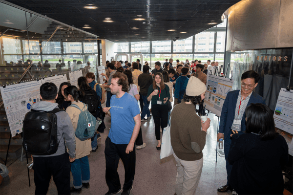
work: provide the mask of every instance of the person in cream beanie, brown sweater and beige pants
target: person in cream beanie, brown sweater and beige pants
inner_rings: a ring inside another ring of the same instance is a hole
[[[171,145],[177,167],[175,195],[195,195],[199,183],[210,119],[202,121],[195,106],[205,98],[205,93],[205,84],[190,77],[183,101],[171,112]]]

